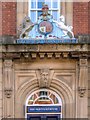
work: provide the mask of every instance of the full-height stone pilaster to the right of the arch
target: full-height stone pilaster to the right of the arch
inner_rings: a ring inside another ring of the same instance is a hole
[[[79,60],[79,81],[77,94],[77,118],[88,118],[88,62]]]

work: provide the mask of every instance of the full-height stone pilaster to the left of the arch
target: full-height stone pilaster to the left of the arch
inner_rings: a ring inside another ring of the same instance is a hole
[[[12,60],[4,61],[3,68],[3,117],[14,117],[14,81],[13,81],[13,63]]]

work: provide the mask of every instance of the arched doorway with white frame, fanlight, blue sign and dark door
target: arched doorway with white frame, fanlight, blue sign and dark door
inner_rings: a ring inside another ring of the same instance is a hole
[[[25,103],[25,118],[29,120],[59,120],[62,118],[62,100],[48,89],[33,92]]]

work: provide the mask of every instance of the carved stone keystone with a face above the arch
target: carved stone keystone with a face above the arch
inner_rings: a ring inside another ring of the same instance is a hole
[[[50,87],[53,73],[54,73],[54,71],[50,70],[49,68],[38,69],[36,71],[40,88]]]

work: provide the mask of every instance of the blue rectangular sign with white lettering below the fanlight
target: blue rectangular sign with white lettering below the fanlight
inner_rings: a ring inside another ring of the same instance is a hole
[[[27,106],[27,113],[60,113],[61,106]]]

